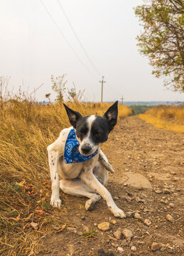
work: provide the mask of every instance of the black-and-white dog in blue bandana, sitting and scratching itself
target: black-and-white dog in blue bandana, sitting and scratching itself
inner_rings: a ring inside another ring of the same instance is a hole
[[[79,112],[64,106],[72,127],[63,129],[58,139],[47,148],[52,183],[51,206],[61,206],[61,188],[69,195],[89,198],[85,203],[86,210],[90,210],[102,196],[115,217],[126,218],[104,186],[108,171],[114,173],[114,170],[100,149],[117,124],[118,101],[109,107],[103,117],[82,117]]]

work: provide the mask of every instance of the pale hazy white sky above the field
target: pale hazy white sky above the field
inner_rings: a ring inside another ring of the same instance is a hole
[[[9,88],[23,86],[38,100],[52,93],[51,75],[67,74],[67,85],[85,89],[85,100],[99,101],[102,75],[104,101],[183,100],[183,95],[163,87],[151,75],[148,58],[139,54],[141,33],[133,7],[141,0],[60,0],[77,36],[100,75],[87,60],[68,25],[58,1],[43,0],[60,30],[88,70],[80,63],[39,0],[0,0],[0,75],[11,75]]]

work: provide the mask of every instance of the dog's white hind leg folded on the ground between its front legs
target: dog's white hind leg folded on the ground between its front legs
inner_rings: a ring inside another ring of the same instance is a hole
[[[85,196],[90,198],[85,203],[86,210],[91,210],[94,203],[99,201],[101,196],[97,195],[92,188],[87,186],[84,181],[79,178],[72,180],[60,180],[60,189],[63,190],[64,193],[72,196]]]

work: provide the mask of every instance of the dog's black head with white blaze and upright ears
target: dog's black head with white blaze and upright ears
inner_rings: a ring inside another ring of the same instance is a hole
[[[82,117],[79,112],[71,110],[64,104],[70,124],[76,129],[80,154],[85,156],[93,154],[103,142],[107,141],[109,132],[117,124],[117,105],[118,101],[109,107],[103,117],[97,115]]]

